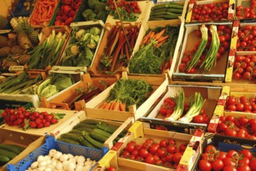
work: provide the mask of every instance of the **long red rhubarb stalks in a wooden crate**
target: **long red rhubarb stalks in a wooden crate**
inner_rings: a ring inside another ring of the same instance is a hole
[[[108,35],[108,43],[101,57],[100,69],[102,73],[113,73],[119,68],[127,67],[133,50],[140,26],[126,26],[125,32],[121,26],[112,26]],[[127,44],[126,38],[129,42]]]

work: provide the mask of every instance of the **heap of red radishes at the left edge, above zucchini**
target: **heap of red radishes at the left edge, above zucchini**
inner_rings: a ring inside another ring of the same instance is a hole
[[[29,128],[50,127],[51,124],[58,123],[59,119],[65,115],[64,113],[37,112],[34,108],[26,110],[24,107],[16,110],[6,108],[2,113],[5,124],[22,127],[24,131]]]

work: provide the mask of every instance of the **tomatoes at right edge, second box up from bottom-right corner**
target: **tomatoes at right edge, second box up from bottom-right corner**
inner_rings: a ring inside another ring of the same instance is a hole
[[[256,140],[256,120],[247,117],[220,117],[217,133],[238,138]]]

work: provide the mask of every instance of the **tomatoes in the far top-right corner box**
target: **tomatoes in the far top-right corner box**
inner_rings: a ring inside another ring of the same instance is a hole
[[[251,7],[244,7],[242,5],[236,8],[236,17],[238,19],[254,19],[256,18],[256,1],[251,0]]]

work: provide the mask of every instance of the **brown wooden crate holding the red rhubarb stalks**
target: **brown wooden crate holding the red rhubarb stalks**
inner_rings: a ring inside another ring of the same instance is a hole
[[[108,75],[108,74],[123,72],[123,71],[127,70],[126,65],[128,65],[128,64],[126,64],[126,61],[128,62],[128,60],[123,62],[123,61],[120,60],[120,58],[116,59],[116,64],[115,64],[114,68],[109,67],[109,68],[106,68],[106,69],[103,69],[103,70],[101,68],[101,59],[105,57],[106,48],[108,47],[108,45],[110,45],[110,42],[108,42],[108,40],[109,40],[109,37],[111,36],[110,33],[112,33],[112,28],[114,26],[116,26],[117,29],[120,28],[119,30],[123,30],[123,29],[125,29],[125,30],[137,30],[137,33],[139,33],[140,27],[141,27],[140,23],[124,22],[123,27],[121,27],[122,24],[120,22],[116,22],[114,24],[106,23],[105,24],[105,33],[104,33],[104,36],[102,37],[101,44],[98,47],[98,53],[95,54],[94,60],[92,61],[91,66],[88,68],[88,72],[91,73],[91,75],[100,75],[100,74]],[[133,36],[133,37],[135,37],[135,36]],[[138,40],[138,36],[137,36],[137,39],[134,39],[134,48],[131,49],[131,51],[134,51],[134,49],[137,49],[137,47],[140,46],[138,44],[137,40]],[[124,54],[125,53],[126,52],[124,51]]]

